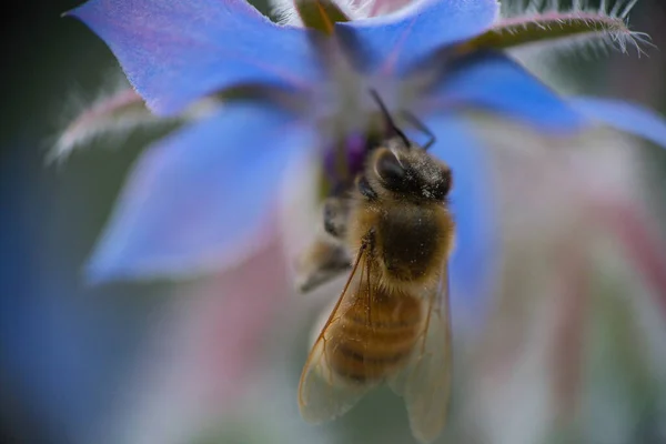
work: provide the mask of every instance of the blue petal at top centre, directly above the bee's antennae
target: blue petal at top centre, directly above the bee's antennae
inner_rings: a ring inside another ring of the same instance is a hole
[[[483,33],[498,10],[496,0],[424,0],[335,29],[362,69],[403,73],[432,52]]]

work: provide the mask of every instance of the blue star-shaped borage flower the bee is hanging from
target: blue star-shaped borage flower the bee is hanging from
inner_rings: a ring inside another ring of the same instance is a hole
[[[666,145],[666,123],[652,112],[561,98],[506,53],[470,46],[496,24],[495,0],[425,0],[324,31],[275,24],[244,0],[91,0],[71,14],[109,44],[160,115],[230,90],[268,92],[230,99],[143,153],[92,258],[94,280],[238,260],[270,223],[289,164],[369,131],[371,88],[392,112],[421,117],[437,135],[432,152],[454,171],[452,280],[462,294],[480,292],[495,239],[485,157],[466,110],[555,135],[601,122]]]

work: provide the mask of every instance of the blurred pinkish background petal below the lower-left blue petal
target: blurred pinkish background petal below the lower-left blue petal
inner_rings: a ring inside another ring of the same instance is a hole
[[[124,430],[117,442],[181,444],[234,411],[291,293],[284,262],[273,236],[235,269],[176,294],[171,315],[154,325],[121,426],[113,425]]]

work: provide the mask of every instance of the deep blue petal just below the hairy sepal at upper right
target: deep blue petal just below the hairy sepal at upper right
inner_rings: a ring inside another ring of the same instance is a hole
[[[476,108],[547,132],[579,130],[586,119],[506,56],[480,52],[456,62],[434,89],[432,108]]]

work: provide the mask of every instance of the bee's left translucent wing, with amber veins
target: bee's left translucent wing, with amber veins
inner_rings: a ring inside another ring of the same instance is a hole
[[[310,423],[332,420],[347,412],[374,385],[343,381],[331,369],[335,327],[344,313],[354,304],[366,303],[357,299],[361,285],[369,285],[366,248],[362,246],[350,278],[317,336],[299,384],[299,406],[303,418]]]

